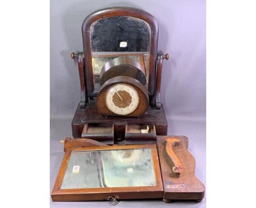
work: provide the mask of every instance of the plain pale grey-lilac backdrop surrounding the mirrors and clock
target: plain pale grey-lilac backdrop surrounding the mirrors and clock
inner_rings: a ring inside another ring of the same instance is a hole
[[[106,7],[135,7],[152,14],[159,25],[158,51],[164,60],[161,102],[169,135],[189,138],[195,174],[206,185],[206,2],[184,1],[50,1],[50,192],[63,158],[60,140],[72,136],[71,121],[80,100],[77,64],[70,53],[83,51],[81,27],[87,15]],[[103,207],[106,201],[53,203],[51,207]],[[205,207],[201,203],[161,200],[121,201],[119,207]]]

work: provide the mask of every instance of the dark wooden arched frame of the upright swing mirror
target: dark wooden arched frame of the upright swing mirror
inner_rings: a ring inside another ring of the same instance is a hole
[[[149,81],[148,92],[149,96],[153,96],[155,92],[155,67],[156,57],[158,53],[158,23],[155,18],[141,9],[129,7],[113,7],[95,11],[90,14],[83,22],[82,36],[84,47],[84,61],[85,61],[85,81],[86,90],[89,97],[97,96],[98,92],[94,89],[94,75],[92,71],[92,57],[91,57],[91,40],[90,40],[90,26],[97,20],[113,16],[131,16],[147,22],[150,26],[150,60],[149,60]]]

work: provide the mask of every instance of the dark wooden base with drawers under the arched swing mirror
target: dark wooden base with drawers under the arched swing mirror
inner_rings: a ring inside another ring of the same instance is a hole
[[[95,103],[88,103],[85,108],[80,108],[78,105],[77,111],[75,112],[73,121],[72,121],[72,133],[75,138],[82,138],[83,130],[85,124],[112,124],[113,125],[113,144],[117,139],[124,139],[129,136],[126,132],[126,124],[154,124],[156,135],[167,135],[167,120],[164,111],[164,107],[161,105],[161,109],[155,109],[155,107],[149,106],[146,113],[144,113],[141,117],[116,117],[116,116],[107,116],[104,117],[100,112],[97,111]],[[85,131],[84,131],[85,132]],[[87,134],[89,135],[89,134]],[[126,136],[125,136],[126,135]],[[109,132],[106,132],[106,138],[109,138]],[[153,136],[153,135],[152,135]],[[138,137],[139,134],[138,134]],[[145,135],[143,134],[143,137]],[[86,136],[84,133],[84,138],[90,138]],[[101,134],[98,137],[91,137],[90,139],[98,140],[98,138],[104,138],[104,135]],[[146,137],[145,137],[146,138]],[[147,138],[148,139],[148,138]],[[156,138],[152,138],[156,140]],[[109,139],[108,139],[109,140]],[[101,142],[101,140],[98,140]],[[109,140],[110,141],[110,140]]]

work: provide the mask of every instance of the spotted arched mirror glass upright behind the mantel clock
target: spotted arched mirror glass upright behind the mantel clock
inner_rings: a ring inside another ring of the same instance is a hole
[[[136,17],[114,16],[92,23],[90,39],[96,90],[100,87],[98,83],[103,65],[120,56],[135,59],[141,64],[148,83],[150,33],[148,23]]]

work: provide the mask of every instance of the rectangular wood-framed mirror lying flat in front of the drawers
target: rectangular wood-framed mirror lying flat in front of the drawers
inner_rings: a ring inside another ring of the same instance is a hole
[[[161,198],[162,193],[155,144],[94,146],[66,150],[52,198],[103,200],[114,194],[139,199]]]

